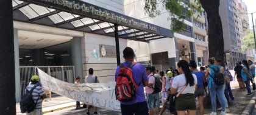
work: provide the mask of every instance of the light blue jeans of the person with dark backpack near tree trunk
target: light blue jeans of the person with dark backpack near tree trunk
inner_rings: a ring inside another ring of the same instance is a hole
[[[219,102],[221,103],[222,111],[225,111],[226,106],[226,99],[224,96],[224,85],[215,85],[215,83],[212,83],[211,88],[209,88],[211,101],[212,101],[212,109],[213,111],[216,111],[216,94],[219,97]]]

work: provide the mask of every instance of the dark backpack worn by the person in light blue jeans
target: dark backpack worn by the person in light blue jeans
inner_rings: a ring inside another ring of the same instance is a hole
[[[216,66],[215,68],[212,68],[212,67],[209,67],[209,68],[213,69],[214,71],[214,74],[215,74],[214,77],[211,74],[209,74],[210,77],[213,78],[214,83],[216,85],[224,85],[225,78],[224,78],[224,75],[221,73],[221,70],[219,69],[219,67]]]

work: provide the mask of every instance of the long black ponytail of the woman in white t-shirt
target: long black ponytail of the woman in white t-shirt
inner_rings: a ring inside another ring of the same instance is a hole
[[[194,77],[190,71],[190,68],[188,66],[188,61],[186,60],[180,60],[177,64],[179,68],[182,68],[185,78],[186,78],[186,84],[190,84],[190,86],[194,86]]]

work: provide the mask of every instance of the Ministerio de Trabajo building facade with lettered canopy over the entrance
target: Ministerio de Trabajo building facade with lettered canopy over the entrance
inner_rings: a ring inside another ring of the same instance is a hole
[[[99,82],[109,82],[115,80],[116,66],[124,61],[123,49],[131,41],[140,41],[138,46],[144,51],[135,51],[140,52],[137,60],[148,63],[151,57],[147,57],[147,46],[151,40],[174,40],[174,33],[169,29],[125,15],[124,1],[120,0],[13,0],[13,26],[17,102],[23,94],[23,86],[37,74],[34,68],[33,72],[24,70],[23,75],[20,68],[74,66],[72,78],[66,71],[46,70],[64,75],[61,79],[71,79],[71,83],[77,76],[82,78],[82,83],[88,69],[93,68]],[[169,49],[175,46],[171,43]],[[151,50],[156,52],[153,47]],[[173,52],[168,55],[175,55],[176,50]],[[175,65],[175,58],[167,60],[174,60]],[[59,79],[57,74],[52,77]]]

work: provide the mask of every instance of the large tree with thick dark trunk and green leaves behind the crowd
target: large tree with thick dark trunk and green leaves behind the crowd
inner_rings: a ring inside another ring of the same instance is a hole
[[[196,13],[201,7],[207,13],[208,19],[208,50],[209,57],[215,57],[224,60],[224,38],[222,32],[222,23],[219,16],[219,0],[145,0],[145,12],[150,17],[160,14],[157,8],[160,4],[165,7],[169,13],[172,22],[171,30],[177,32],[184,27],[183,19]],[[185,14],[185,15],[184,15]]]

